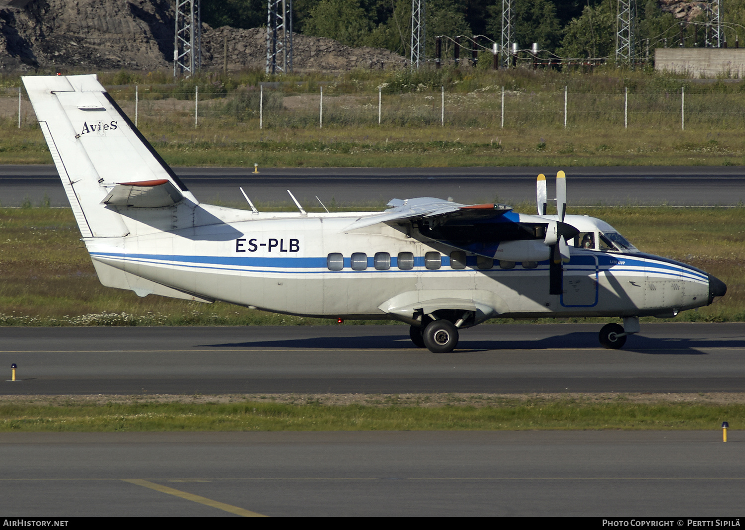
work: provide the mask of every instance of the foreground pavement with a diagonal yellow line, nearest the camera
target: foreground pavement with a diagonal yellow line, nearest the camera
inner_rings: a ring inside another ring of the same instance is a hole
[[[726,444],[720,437],[717,429],[1,433],[0,513],[738,517],[745,444],[739,432]]]

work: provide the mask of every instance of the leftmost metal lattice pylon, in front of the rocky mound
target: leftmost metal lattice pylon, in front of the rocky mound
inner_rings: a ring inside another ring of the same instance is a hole
[[[174,76],[188,78],[202,65],[202,8],[200,0],[176,0]]]

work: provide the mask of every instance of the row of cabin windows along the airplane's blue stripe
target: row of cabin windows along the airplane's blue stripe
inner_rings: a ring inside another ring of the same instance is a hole
[[[494,260],[487,258],[486,256],[466,256],[466,253],[461,250],[455,250],[450,253],[449,263],[450,268],[463,269],[466,267],[476,267],[479,269],[490,269],[495,265],[495,261],[498,262],[500,268],[515,268],[516,262],[510,262],[505,259]],[[522,268],[536,268],[537,262],[522,262]],[[332,252],[326,257],[326,266],[329,271],[341,271],[344,268],[344,256],[340,252]],[[377,271],[387,271],[390,268],[398,268],[401,271],[410,271],[414,268],[414,255],[410,252],[399,252],[395,257],[392,257],[387,252],[376,252],[372,258],[368,257],[364,252],[352,253],[349,258],[349,262],[346,264],[347,267],[352,268],[352,271],[365,271],[367,268],[375,268]],[[430,271],[437,271],[437,269],[443,266],[443,256],[439,252],[428,252],[424,255],[424,266]]]

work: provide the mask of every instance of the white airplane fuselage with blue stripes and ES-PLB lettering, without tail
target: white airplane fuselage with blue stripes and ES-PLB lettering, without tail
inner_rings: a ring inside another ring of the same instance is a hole
[[[409,321],[413,315],[391,309],[448,298],[480,303],[489,309],[483,318],[668,316],[708,303],[706,273],[659,256],[572,249],[562,294],[549,294],[548,259],[492,259],[487,269],[483,259],[477,264],[477,256],[466,253],[466,267],[453,268],[450,255],[460,248],[416,237],[408,224],[343,231],[370,212],[232,213],[249,220],[86,245],[95,263],[200,297],[293,315]],[[341,270],[329,270],[332,253],[343,256]],[[353,253],[366,254],[361,270],[351,268]],[[390,256],[390,268],[375,268],[376,253]],[[399,253],[413,254],[413,268],[399,268]],[[439,268],[427,268],[427,253],[440,254]]]

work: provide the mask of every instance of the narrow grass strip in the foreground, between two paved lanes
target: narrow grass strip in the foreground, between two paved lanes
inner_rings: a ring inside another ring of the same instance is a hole
[[[218,403],[217,398],[206,403],[147,398],[57,404],[4,400],[0,432],[715,430],[724,420],[731,429],[745,425],[741,399],[726,403],[693,395],[682,401],[631,400],[623,394],[606,400],[566,395],[448,396],[419,394],[404,400],[396,395],[371,396],[332,405],[316,397],[296,397],[292,403],[271,399]]]

